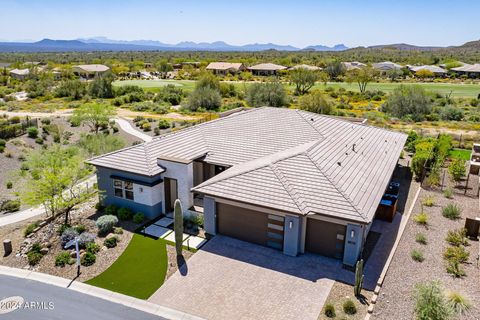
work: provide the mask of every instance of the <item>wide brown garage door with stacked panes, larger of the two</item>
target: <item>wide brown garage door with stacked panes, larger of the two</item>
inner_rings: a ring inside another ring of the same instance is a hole
[[[239,240],[283,249],[282,216],[217,202],[217,231]]]

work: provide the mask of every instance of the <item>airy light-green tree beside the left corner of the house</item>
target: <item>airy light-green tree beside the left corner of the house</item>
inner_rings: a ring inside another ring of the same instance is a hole
[[[65,214],[68,223],[69,212],[92,196],[92,190],[78,186],[90,173],[84,160],[77,147],[59,144],[31,153],[25,162],[29,170],[28,187],[21,192],[24,203],[43,205],[51,217]]]

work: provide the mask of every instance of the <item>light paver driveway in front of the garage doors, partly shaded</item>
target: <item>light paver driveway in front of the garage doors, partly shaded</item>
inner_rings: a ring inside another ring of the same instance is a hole
[[[337,260],[216,236],[149,301],[206,319],[317,319],[339,270]]]

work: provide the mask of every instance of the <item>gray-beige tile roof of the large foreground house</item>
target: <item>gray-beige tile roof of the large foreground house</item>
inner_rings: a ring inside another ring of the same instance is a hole
[[[286,108],[232,114],[96,157],[89,162],[143,175],[158,158],[204,157],[230,169],[195,191],[301,215],[369,222],[406,135]]]

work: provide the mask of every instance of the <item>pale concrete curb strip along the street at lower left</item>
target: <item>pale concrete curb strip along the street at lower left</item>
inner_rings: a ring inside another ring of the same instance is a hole
[[[190,315],[178,310],[163,307],[145,300],[130,297],[121,293],[109,291],[85,284],[83,282],[70,281],[65,278],[52,276],[45,273],[0,266],[0,275],[22,278],[26,280],[38,281],[50,284],[57,287],[74,290],[83,294],[88,294],[103,300],[113,303],[122,304],[126,307],[137,309],[139,311],[147,312],[156,316],[161,316],[172,320],[204,320],[203,318]]]

